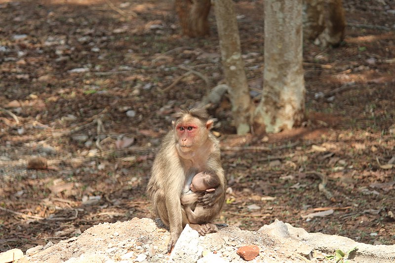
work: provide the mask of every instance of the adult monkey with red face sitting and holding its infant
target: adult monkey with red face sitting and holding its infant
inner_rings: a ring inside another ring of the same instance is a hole
[[[147,187],[155,213],[170,227],[168,252],[171,252],[184,226],[190,224],[180,198],[196,171],[211,173],[220,181],[214,191],[201,193],[198,197],[197,202],[203,208],[220,204],[208,221],[190,224],[200,235],[217,231],[216,225],[210,221],[221,212],[226,187],[219,142],[210,132],[213,120],[204,109],[196,108],[174,116],[173,128],[163,138]]]

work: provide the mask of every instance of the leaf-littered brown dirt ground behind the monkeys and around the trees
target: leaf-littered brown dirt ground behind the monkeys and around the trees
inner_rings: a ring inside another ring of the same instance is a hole
[[[236,5],[258,101],[263,1]],[[257,230],[277,218],[395,243],[395,3],[344,6],[340,47],[304,44],[304,127],[235,136],[229,100],[210,108],[223,149],[234,147],[222,151],[218,223]],[[172,1],[0,0],[0,11],[0,251],[153,218],[145,188],[169,114],[224,81],[213,14],[211,36],[189,39]],[[37,156],[48,167],[27,169]]]

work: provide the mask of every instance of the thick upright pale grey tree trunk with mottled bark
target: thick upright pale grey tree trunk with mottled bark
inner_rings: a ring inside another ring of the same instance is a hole
[[[291,129],[304,119],[302,0],[264,0],[265,70],[256,132]]]

